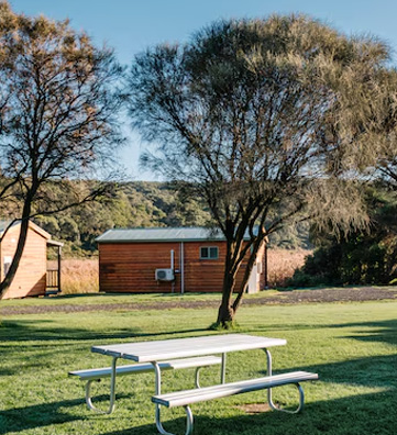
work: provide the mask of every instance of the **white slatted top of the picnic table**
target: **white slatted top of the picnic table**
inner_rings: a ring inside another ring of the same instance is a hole
[[[260,337],[247,334],[219,334],[192,338],[92,346],[91,352],[131,359],[136,362],[151,362],[168,358],[187,358],[238,350],[264,349],[286,344],[287,341],[283,338]]]

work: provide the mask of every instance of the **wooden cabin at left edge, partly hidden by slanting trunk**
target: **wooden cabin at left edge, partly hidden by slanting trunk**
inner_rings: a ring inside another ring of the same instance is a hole
[[[0,221],[0,279],[3,280],[15,254],[20,222],[9,230],[9,222]],[[5,234],[4,234],[5,233]],[[47,248],[54,246],[58,255],[58,268],[47,270]],[[45,295],[60,291],[60,247],[51,235],[33,222],[29,223],[25,248],[15,278],[3,299]]]

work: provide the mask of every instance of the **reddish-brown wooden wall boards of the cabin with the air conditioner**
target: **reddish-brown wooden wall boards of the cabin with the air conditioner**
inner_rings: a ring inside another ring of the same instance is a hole
[[[201,259],[201,246],[217,246],[218,259]],[[185,292],[222,291],[225,242],[185,242],[184,269]],[[176,274],[174,282],[156,281],[155,270],[170,268],[170,252],[174,250]],[[103,292],[177,292],[181,291],[180,243],[100,243],[99,286]],[[245,263],[238,276],[241,282]]]

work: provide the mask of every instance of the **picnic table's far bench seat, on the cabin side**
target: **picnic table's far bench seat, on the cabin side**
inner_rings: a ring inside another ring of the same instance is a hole
[[[161,370],[179,370],[179,369],[188,369],[196,368],[195,375],[195,384],[197,388],[200,388],[199,383],[199,370],[202,367],[209,367],[214,365],[220,365],[222,361],[221,357],[217,357],[213,355],[203,356],[203,357],[194,357],[194,358],[180,358],[180,359],[170,359],[167,361],[159,361],[158,367]],[[137,372],[148,372],[153,371],[154,367],[151,362],[142,362],[142,364],[131,364],[125,366],[119,366],[115,368],[115,376],[125,376]],[[112,373],[111,367],[102,367],[95,369],[86,369],[86,370],[75,370],[69,371],[69,376],[76,376],[81,381],[86,381],[86,403],[90,410],[102,412],[98,410],[91,400],[91,383],[93,381],[100,381],[103,378],[110,378]],[[113,395],[113,394],[112,394]],[[110,406],[107,413],[111,413],[113,408]]]

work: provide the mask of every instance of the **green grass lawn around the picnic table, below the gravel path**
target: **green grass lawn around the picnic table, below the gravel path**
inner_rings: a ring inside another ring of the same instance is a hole
[[[288,341],[287,346],[273,350],[275,372],[304,369],[318,372],[320,380],[304,383],[306,409],[298,415],[246,414],[244,406],[262,403],[265,392],[194,404],[195,434],[394,434],[396,313],[397,302],[243,306],[238,315],[242,333]],[[0,435],[156,434],[150,400],[153,375],[120,378],[115,412],[98,415],[85,405],[84,383],[68,378],[67,372],[110,364],[109,357],[90,353],[93,344],[214,334],[207,331],[214,317],[213,309],[3,317]],[[263,352],[228,356],[228,381],[263,376],[264,369]],[[218,370],[203,369],[202,384],[218,382]],[[194,370],[165,372],[163,391],[192,388],[192,380]],[[107,381],[96,386],[97,403],[103,409],[108,405],[107,387]],[[291,387],[275,390],[274,399],[293,405],[296,391]],[[184,434],[181,410],[165,410],[163,414],[167,430]]]

